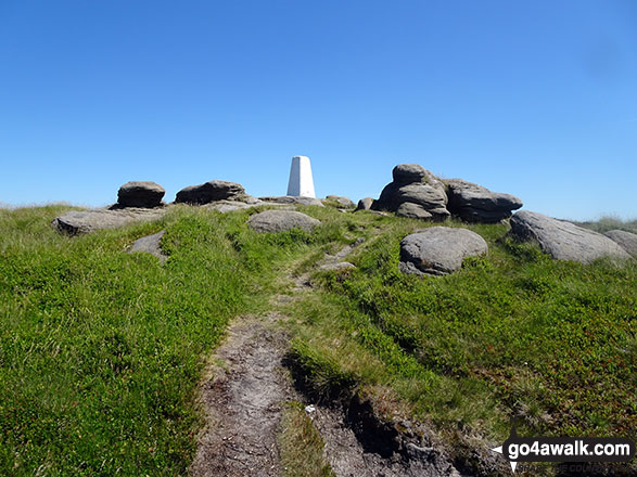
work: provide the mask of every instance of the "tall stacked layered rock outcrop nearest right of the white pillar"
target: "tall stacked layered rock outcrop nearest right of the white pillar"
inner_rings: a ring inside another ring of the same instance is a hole
[[[397,212],[403,204],[409,203],[412,205],[400,209],[406,217],[445,219],[449,216],[445,184],[429,170],[418,164],[399,164],[392,175],[394,180],[371,206],[374,210]]]

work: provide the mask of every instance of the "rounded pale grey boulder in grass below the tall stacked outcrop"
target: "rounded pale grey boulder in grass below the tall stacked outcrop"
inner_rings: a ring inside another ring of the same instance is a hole
[[[400,242],[400,271],[417,275],[442,275],[462,267],[464,257],[484,255],[483,237],[468,229],[432,227]]]

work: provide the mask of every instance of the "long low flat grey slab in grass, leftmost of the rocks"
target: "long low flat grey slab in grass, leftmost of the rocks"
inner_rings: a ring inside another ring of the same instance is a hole
[[[102,229],[117,229],[132,222],[158,220],[166,208],[124,208],[72,210],[56,217],[51,225],[68,235],[79,235]]]

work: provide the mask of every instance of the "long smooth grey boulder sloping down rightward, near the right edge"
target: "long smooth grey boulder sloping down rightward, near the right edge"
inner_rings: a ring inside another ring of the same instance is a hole
[[[511,217],[511,233],[522,241],[538,242],[542,249],[556,260],[590,263],[602,257],[630,257],[608,236],[528,210]]]

